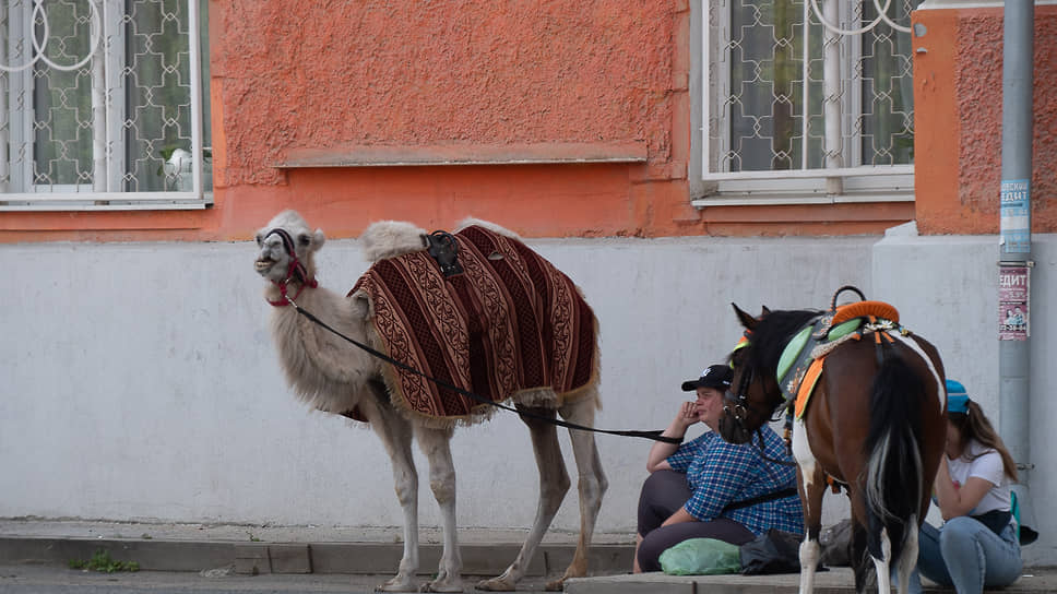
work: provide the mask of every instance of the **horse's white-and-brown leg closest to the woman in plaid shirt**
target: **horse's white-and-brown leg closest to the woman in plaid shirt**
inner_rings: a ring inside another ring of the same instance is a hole
[[[796,459],[796,478],[804,506],[806,534],[800,543],[800,594],[815,591],[815,569],[821,550],[819,533],[822,531],[822,497],[826,495],[826,473],[815,459],[808,443],[807,427],[797,420],[793,427],[793,458]]]

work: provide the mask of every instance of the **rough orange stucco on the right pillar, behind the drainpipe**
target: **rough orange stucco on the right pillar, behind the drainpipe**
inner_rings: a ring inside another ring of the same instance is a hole
[[[1034,141],[1032,228],[1057,230],[1057,12],[1035,19]],[[1002,19],[967,17],[958,25],[957,86],[961,150],[958,194],[962,206],[984,215],[986,228],[998,233],[1002,139]],[[976,218],[976,217],[974,217]]]

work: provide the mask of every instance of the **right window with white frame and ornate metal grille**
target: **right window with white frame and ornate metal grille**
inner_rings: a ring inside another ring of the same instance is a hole
[[[887,2],[702,1],[696,205],[913,200],[911,35],[899,23],[916,0]]]

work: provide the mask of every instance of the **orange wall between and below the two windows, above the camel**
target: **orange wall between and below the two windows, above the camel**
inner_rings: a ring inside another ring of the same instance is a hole
[[[245,239],[296,207],[331,237],[473,215],[528,237],[878,234],[913,204],[689,205],[687,0],[212,0],[215,205],[2,213],[0,241]],[[644,163],[276,167],[297,151],[644,146]]]

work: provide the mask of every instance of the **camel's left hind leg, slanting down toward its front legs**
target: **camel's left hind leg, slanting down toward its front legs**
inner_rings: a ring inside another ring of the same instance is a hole
[[[532,408],[534,415],[550,416],[555,412],[544,408]],[[536,454],[536,467],[539,471],[539,502],[536,504],[536,519],[528,531],[525,544],[521,546],[521,551],[510,567],[502,572],[502,575],[490,580],[482,580],[477,583],[477,590],[494,592],[510,592],[514,590],[518,580],[525,574],[525,569],[532,561],[532,555],[543,540],[544,534],[550,527],[550,522],[561,500],[565,499],[569,490],[569,474],[566,472],[566,463],[561,458],[561,448],[558,445],[557,427],[538,419],[521,417],[528,426],[528,433],[532,437],[532,449]]]

